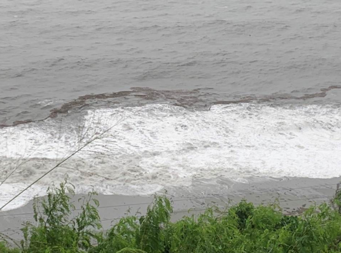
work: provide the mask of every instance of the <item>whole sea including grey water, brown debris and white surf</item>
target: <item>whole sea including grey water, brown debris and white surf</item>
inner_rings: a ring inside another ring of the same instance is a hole
[[[340,176],[340,24],[338,0],[2,0],[0,206],[117,122],[8,208],[65,173],[131,195]]]

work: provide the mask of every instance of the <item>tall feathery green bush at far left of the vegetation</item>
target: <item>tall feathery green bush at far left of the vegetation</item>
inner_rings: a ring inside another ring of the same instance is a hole
[[[74,195],[74,187],[65,180],[59,188],[49,188],[46,199],[35,199],[36,224],[28,222],[22,228],[22,253],[78,253],[92,248],[91,240],[97,238],[94,229],[101,228],[99,203],[93,199],[96,193],[90,192],[87,198],[78,200],[80,212],[73,219],[70,215],[76,208],[70,195]]]

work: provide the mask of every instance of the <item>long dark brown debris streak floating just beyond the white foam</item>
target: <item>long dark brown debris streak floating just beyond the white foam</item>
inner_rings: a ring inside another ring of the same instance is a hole
[[[43,121],[48,118],[56,118],[61,114],[69,114],[72,110],[82,109],[93,105],[94,103],[105,102],[106,104],[122,104],[123,101],[137,100],[137,104],[133,106],[145,105],[152,102],[169,103],[175,106],[192,109],[209,109],[215,104],[235,104],[249,102],[276,102],[276,101],[304,101],[314,98],[324,98],[327,93],[334,89],[341,89],[341,85],[331,85],[321,88],[320,92],[304,94],[302,96],[293,96],[291,94],[272,94],[264,96],[248,95],[248,96],[231,96],[231,100],[222,100],[221,95],[209,92],[211,88],[198,88],[193,90],[156,90],[152,88],[135,87],[130,91],[119,91],[112,93],[91,94],[80,96],[77,99],[64,103],[59,108],[54,108],[50,114],[41,119],[17,120],[12,124],[0,124],[0,128],[13,127],[20,124]],[[208,101],[208,97],[209,100]],[[130,105],[132,106],[132,101]]]

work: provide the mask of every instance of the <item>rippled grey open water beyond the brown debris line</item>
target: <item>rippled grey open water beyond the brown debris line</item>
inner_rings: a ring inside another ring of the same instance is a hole
[[[340,40],[339,0],[1,0],[0,124],[132,87],[319,93],[340,85]]]

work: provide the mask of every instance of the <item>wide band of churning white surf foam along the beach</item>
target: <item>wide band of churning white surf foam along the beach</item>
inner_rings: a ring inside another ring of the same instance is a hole
[[[90,110],[81,134],[70,126],[59,131],[54,120],[0,130],[4,175],[22,158],[32,158],[6,181],[6,187],[33,182],[66,153],[117,122],[68,160],[63,165],[67,168],[56,169],[32,191],[45,191],[65,173],[79,189],[92,185],[100,192],[129,195],[190,186],[200,178],[341,176],[340,108],[233,104],[189,111],[154,104]],[[8,192],[14,191],[0,189],[1,201],[9,199]]]

